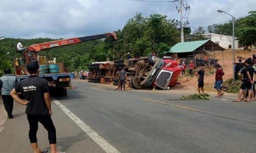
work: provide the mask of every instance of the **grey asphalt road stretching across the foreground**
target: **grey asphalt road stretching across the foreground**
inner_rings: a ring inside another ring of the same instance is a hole
[[[256,102],[232,103],[230,97],[179,101],[169,99],[189,93],[112,91],[109,86],[73,80],[72,84],[77,89],[69,90],[68,97],[56,98],[63,107],[53,104],[58,148],[68,153],[106,152],[98,137],[121,153],[256,152]],[[16,117],[4,124],[1,153],[30,149],[23,111],[16,104]],[[86,132],[87,126],[93,132]],[[47,132],[41,127],[38,133],[47,149]]]

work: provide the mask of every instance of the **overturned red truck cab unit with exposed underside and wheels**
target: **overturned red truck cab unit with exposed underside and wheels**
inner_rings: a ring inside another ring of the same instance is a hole
[[[176,61],[169,58],[161,59],[155,55],[130,59],[129,63],[128,71],[132,76],[130,83],[135,89],[167,89],[176,84],[183,70]]]

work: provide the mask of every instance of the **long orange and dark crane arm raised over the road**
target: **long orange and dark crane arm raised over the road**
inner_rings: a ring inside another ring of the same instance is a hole
[[[68,39],[56,40],[52,42],[44,42],[41,44],[34,44],[34,45],[28,46],[28,51],[39,52],[44,49],[67,46],[67,45],[72,45],[72,44],[77,44],[77,43],[82,43],[82,42],[87,42],[87,41],[97,40],[102,38],[109,38],[109,37],[113,37],[115,40],[117,39],[117,35],[115,32],[104,33],[100,35],[83,36],[79,38],[68,38]]]

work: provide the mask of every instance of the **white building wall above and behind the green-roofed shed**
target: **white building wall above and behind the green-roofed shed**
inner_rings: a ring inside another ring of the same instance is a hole
[[[216,33],[208,33],[204,34],[206,38],[210,38],[213,42],[219,44],[219,46],[223,47],[224,49],[232,49],[233,45],[233,37],[226,36],[226,35],[219,35]],[[229,48],[230,47],[230,48]],[[238,40],[235,40],[235,49],[243,49],[238,47]]]

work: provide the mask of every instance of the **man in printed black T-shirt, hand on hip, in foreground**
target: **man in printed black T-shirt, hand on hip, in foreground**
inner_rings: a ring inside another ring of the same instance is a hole
[[[27,119],[30,124],[29,138],[34,153],[46,153],[48,150],[41,150],[37,145],[38,122],[48,131],[51,153],[63,153],[56,151],[56,129],[52,122],[52,109],[49,95],[48,82],[44,78],[39,78],[39,65],[36,62],[28,63],[28,73],[30,77],[21,80],[11,91],[11,96],[22,105],[26,105]],[[19,98],[17,93],[21,93],[26,101]]]

